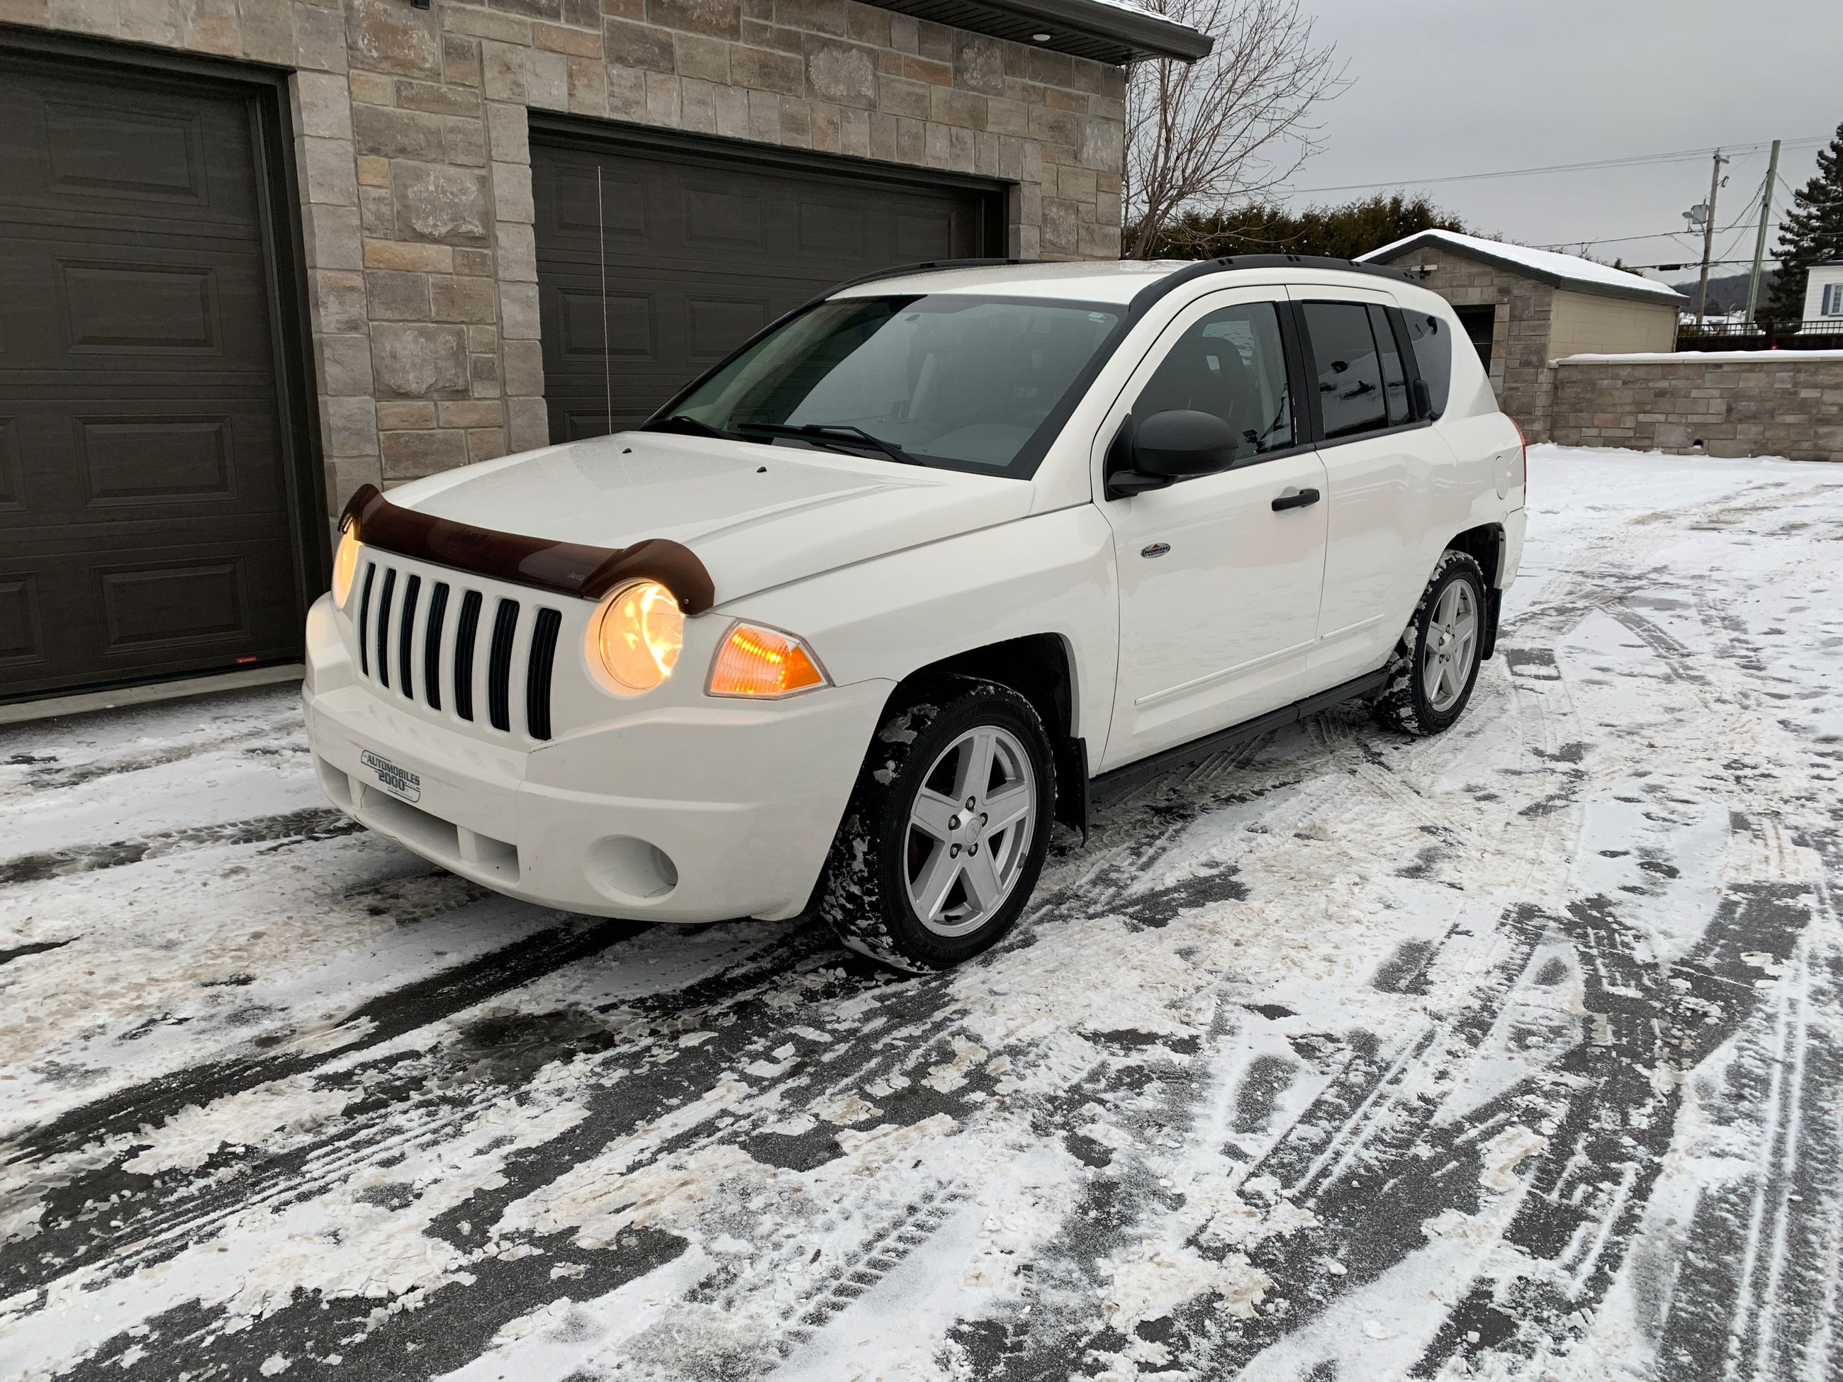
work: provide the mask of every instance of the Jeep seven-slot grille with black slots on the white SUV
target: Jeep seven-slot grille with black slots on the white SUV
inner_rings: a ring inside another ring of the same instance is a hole
[[[461,595],[450,625],[448,606]],[[501,733],[512,732],[514,682],[523,689],[523,730],[533,739],[551,737],[551,673],[562,614],[542,604],[496,595],[490,630],[481,630],[487,597],[459,582],[400,571],[389,560],[365,566],[358,601],[359,674],[404,700],[442,709],[452,691],[452,713],[474,720],[475,697],[485,691],[487,720]],[[522,658],[518,636],[531,638]],[[487,647],[477,649],[485,632]],[[481,656],[485,654],[485,656]],[[514,669],[514,662],[522,665]],[[485,667],[485,685],[475,682]]]

